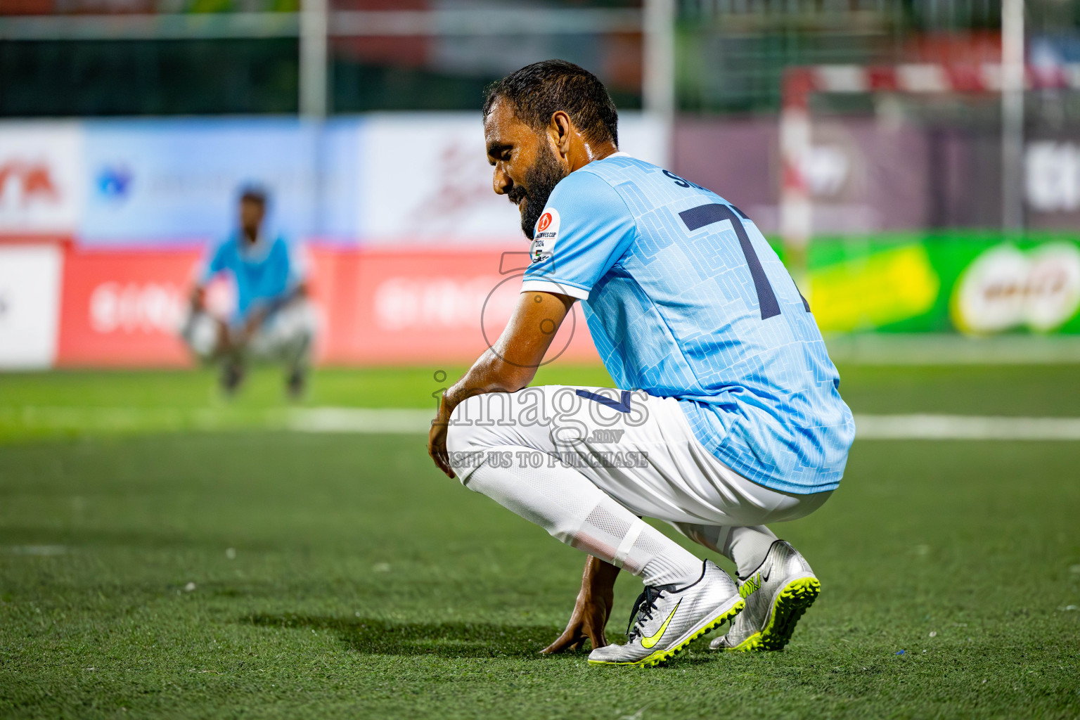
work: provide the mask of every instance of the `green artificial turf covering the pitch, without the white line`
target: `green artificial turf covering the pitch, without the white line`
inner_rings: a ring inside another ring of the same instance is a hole
[[[1080,416],[1076,367],[841,370],[856,412]],[[432,375],[323,371],[307,404],[426,407]],[[420,436],[260,430],[276,376],[228,404],[212,380],[0,376],[0,717],[1080,716],[1080,444],[858,440],[829,502],[775,526],[823,584],[785,651],[589,667],[536,654],[580,554]],[[94,407],[141,415],[21,420]],[[207,408],[233,429],[188,432]]]

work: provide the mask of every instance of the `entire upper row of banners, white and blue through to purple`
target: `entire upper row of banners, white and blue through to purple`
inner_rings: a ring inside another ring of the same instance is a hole
[[[716,190],[766,234],[780,228],[774,119],[679,119],[669,152],[654,118],[622,113],[620,145]],[[797,159],[812,232],[860,235],[1000,226],[996,127],[881,117],[815,119]],[[219,237],[238,189],[273,194],[270,221],[345,244],[501,245],[517,217],[491,192],[475,113],[0,122],[0,235],[81,246],[167,247]],[[1080,135],[1032,130],[1026,225],[1080,231]]]

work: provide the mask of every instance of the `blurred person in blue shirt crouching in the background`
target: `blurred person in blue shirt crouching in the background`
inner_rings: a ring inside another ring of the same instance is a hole
[[[296,248],[281,235],[264,231],[267,203],[267,194],[258,188],[241,194],[240,229],[204,263],[180,336],[203,362],[220,365],[227,393],[237,391],[252,361],[261,361],[282,363],[286,391],[298,397],[307,379],[315,315]],[[206,309],[206,286],[219,273],[235,281],[237,310],[229,321]]]

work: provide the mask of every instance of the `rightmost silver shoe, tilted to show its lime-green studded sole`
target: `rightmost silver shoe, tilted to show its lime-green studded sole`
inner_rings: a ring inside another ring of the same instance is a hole
[[[806,559],[786,541],[775,541],[757,570],[739,585],[746,610],[727,635],[708,643],[710,649],[782,650],[819,593],[821,583]]]

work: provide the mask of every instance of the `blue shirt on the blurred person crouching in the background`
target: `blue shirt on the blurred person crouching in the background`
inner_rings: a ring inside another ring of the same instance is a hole
[[[281,235],[260,237],[249,245],[235,232],[211,254],[202,272],[203,284],[219,272],[229,272],[235,280],[237,321],[246,317],[256,303],[284,298],[306,274],[297,248]]]

